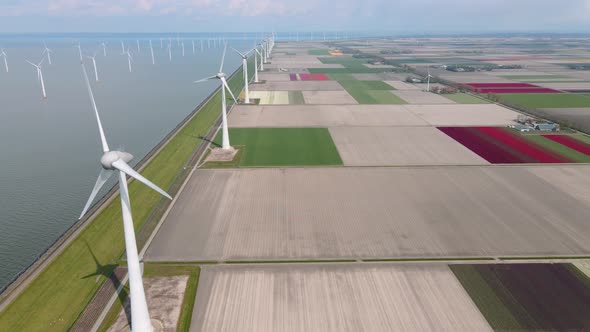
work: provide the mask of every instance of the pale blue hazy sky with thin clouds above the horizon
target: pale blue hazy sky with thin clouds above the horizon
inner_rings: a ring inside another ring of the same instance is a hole
[[[590,0],[0,0],[1,33],[590,33]]]

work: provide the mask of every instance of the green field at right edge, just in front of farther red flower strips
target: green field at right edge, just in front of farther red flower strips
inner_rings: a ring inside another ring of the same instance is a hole
[[[505,101],[528,109],[590,107],[590,95],[574,93],[500,94]]]

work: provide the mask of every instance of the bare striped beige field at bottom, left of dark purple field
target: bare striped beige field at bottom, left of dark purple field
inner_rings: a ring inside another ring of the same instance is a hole
[[[445,265],[206,266],[191,331],[491,331]]]

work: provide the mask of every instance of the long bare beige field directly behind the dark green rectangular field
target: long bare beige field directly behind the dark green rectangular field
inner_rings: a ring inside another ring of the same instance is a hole
[[[236,106],[231,127],[427,126],[399,105]]]

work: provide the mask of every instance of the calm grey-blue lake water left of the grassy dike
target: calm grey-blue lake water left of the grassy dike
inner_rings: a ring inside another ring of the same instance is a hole
[[[209,48],[209,37],[0,35],[9,65],[6,73],[0,59],[0,288],[76,222],[100,170],[102,150],[79,63],[78,41],[84,54],[96,52],[99,82],[94,82],[92,62],[85,59],[85,63],[108,143],[112,149],[132,153],[135,163],[218,86],[216,81],[192,83],[219,69],[223,48],[214,47],[213,42]],[[148,39],[153,40],[155,65]],[[205,39],[203,52],[200,39]],[[41,60],[43,40],[54,51],[53,64],[46,59],[42,66],[46,100],[36,69],[25,62]],[[121,40],[134,58],[132,73],[127,57],[121,55]],[[179,44],[183,40],[184,57]],[[191,40],[195,40],[195,54]],[[103,41],[107,42],[106,57],[100,46]],[[240,35],[228,38],[228,43],[245,50],[254,40]],[[228,75],[241,64],[230,51],[224,67]]]

